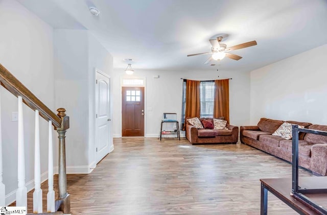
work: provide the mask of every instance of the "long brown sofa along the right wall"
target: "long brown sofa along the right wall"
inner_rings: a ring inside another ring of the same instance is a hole
[[[327,131],[327,126],[322,125],[261,118],[257,126],[240,127],[240,140],[243,144],[292,162],[292,139],[271,135],[284,122]],[[327,137],[300,132],[298,146],[299,165],[315,174],[327,176]]]

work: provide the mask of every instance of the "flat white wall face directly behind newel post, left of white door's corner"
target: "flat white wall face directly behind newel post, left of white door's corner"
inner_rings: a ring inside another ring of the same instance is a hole
[[[67,110],[70,126],[66,165],[84,168],[88,165],[88,33],[55,29],[54,35],[55,105]]]

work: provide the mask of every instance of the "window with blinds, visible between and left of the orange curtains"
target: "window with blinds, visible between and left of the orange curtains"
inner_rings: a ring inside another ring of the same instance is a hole
[[[200,117],[214,116],[215,81],[200,82]],[[186,80],[183,81],[181,129],[185,121]]]

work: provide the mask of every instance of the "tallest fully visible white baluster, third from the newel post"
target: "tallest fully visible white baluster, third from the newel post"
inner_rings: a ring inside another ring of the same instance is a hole
[[[22,117],[22,98],[18,97],[18,188],[16,206],[27,207],[27,188],[25,186],[24,121]]]

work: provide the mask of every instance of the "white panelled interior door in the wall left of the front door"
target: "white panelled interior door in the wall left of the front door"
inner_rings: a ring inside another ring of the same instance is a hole
[[[110,151],[110,78],[96,71],[96,161]]]

